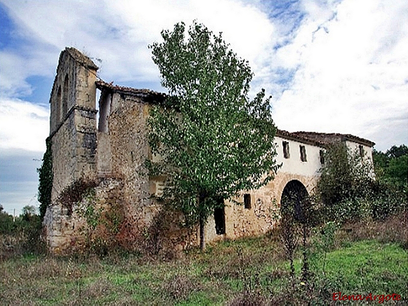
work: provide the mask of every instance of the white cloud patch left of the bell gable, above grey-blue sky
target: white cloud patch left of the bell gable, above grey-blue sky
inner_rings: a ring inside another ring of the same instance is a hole
[[[26,101],[0,98],[0,149],[45,151],[48,113]]]

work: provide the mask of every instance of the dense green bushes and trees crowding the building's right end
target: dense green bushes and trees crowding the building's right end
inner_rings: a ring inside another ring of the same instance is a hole
[[[386,218],[406,209],[408,155],[404,147],[393,146],[386,154],[374,151],[374,175],[369,158],[343,144],[330,146],[318,183],[323,220]]]

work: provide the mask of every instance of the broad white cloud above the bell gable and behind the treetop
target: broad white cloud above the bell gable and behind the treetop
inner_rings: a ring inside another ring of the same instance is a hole
[[[223,32],[235,52],[253,66],[273,34],[265,13],[232,0],[4,2],[15,20],[44,44],[56,50],[73,45],[102,59],[101,77],[115,82],[158,82],[147,45],[159,41],[160,32],[176,22],[188,26],[197,19],[214,33]]]

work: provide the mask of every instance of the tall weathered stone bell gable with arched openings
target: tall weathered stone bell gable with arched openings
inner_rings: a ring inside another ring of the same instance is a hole
[[[77,49],[61,52],[50,95],[53,150],[52,201],[67,186],[96,175],[96,71]]]

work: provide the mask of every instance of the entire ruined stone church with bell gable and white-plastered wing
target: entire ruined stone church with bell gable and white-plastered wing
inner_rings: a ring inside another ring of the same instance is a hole
[[[50,93],[53,156],[51,204],[44,216],[50,251],[78,251],[89,243],[126,248],[185,249],[199,244],[198,226],[181,226],[183,216],[163,210],[163,177],[145,167],[149,106],[165,94],[116,86],[97,78],[98,67],[75,48],[60,55]],[[96,101],[96,91],[100,91]],[[96,107],[98,104],[98,108]],[[98,116],[97,116],[98,115]],[[279,131],[275,179],[228,200],[206,224],[206,241],[259,235],[278,222],[281,199],[291,188],[312,193],[324,163],[325,146],[344,142],[371,158],[373,142],[352,135]]]

